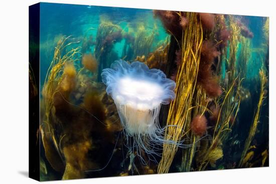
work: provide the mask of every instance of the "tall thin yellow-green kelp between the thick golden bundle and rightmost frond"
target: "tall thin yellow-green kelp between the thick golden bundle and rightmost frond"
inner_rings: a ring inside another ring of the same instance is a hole
[[[215,107],[219,108],[218,117],[212,129],[213,133],[208,149],[205,151],[204,156],[201,156],[201,159],[197,160],[197,170],[205,170],[210,161],[208,158],[214,150],[217,150],[218,143],[222,143],[223,146],[224,140],[227,139],[229,133],[232,131],[232,126],[234,125],[240,106],[241,97],[239,90],[243,79],[240,77],[240,74],[236,72],[235,68],[239,44],[239,28],[232,16],[229,16],[229,29],[231,30],[228,45],[229,50],[227,52],[228,48],[224,48],[224,53],[228,54],[223,56],[226,61],[225,79],[227,80],[222,81],[224,83],[222,95],[214,99]]]

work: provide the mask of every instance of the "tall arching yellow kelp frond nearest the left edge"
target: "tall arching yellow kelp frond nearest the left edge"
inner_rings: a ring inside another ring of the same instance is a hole
[[[69,90],[74,85],[71,83],[72,79],[76,76],[76,71],[74,68],[74,63],[79,60],[80,55],[80,47],[70,49],[69,46],[74,44],[74,42],[69,42],[69,37],[62,37],[55,47],[54,57],[48,69],[42,95],[43,102],[45,105],[45,119],[43,121],[43,129],[45,130],[45,139],[43,139],[44,146],[49,145],[46,142],[46,136],[48,139],[51,139],[54,143],[55,151],[58,152],[60,158],[62,158],[62,153],[60,152],[58,145],[58,137],[55,135],[55,124],[57,123],[53,116],[54,112],[54,95],[58,92],[57,87],[63,86],[63,90]],[[64,83],[64,85],[60,84]],[[51,148],[52,149],[52,148]],[[46,150],[46,148],[45,148]],[[46,152],[50,151],[47,148]],[[50,159],[50,158],[49,158]],[[63,165],[63,164],[59,164]],[[62,170],[62,168],[58,168],[58,170]]]

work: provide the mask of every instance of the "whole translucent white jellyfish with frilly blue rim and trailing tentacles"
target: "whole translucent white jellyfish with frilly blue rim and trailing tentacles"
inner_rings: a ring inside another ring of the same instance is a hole
[[[165,128],[158,120],[160,108],[175,99],[176,83],[161,70],[149,69],[139,61],[114,61],[110,68],[102,70],[101,77],[116,105],[128,148],[135,148],[138,155],[142,149],[157,154],[156,144],[167,141]]]

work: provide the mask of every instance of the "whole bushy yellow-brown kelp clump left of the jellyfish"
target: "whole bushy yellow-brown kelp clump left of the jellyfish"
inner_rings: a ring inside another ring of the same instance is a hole
[[[121,131],[115,105],[106,97],[104,86],[90,81],[91,75],[78,66],[80,47],[65,50],[74,44],[67,43],[68,38],[58,42],[45,79],[41,126],[45,156],[63,179],[84,177],[86,170],[99,168],[108,152],[96,152],[101,145],[107,150],[112,147],[113,133]],[[106,118],[109,113],[112,115]],[[105,135],[104,141],[92,141],[99,133]]]

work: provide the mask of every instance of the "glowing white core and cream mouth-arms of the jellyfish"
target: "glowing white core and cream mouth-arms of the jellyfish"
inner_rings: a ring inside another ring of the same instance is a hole
[[[155,131],[164,89],[154,81],[122,77],[118,79],[114,101],[130,135]]]

